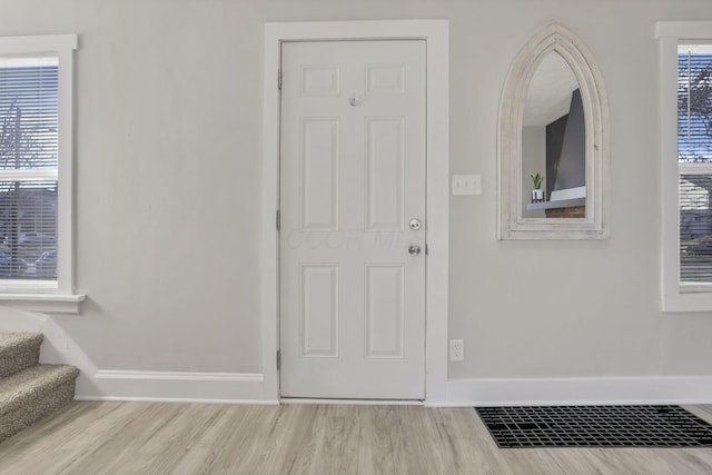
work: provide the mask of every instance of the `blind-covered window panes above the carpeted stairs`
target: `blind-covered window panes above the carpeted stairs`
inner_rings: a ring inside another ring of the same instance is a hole
[[[58,69],[0,58],[0,280],[57,279]]]

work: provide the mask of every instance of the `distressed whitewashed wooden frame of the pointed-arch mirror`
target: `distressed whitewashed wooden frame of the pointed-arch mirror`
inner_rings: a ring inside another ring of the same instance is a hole
[[[581,89],[585,121],[585,218],[522,216],[522,122],[528,86],[542,59],[556,52]],[[498,239],[605,239],[609,237],[609,106],[603,79],[583,42],[558,23],[532,38],[516,56],[500,103]]]

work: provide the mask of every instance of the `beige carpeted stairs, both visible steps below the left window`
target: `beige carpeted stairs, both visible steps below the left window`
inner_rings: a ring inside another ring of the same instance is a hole
[[[0,442],[75,398],[79,370],[40,365],[42,335],[0,331]]]

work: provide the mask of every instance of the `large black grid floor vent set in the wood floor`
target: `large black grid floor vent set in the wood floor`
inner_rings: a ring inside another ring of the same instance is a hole
[[[680,406],[475,407],[502,448],[712,447],[712,426]]]

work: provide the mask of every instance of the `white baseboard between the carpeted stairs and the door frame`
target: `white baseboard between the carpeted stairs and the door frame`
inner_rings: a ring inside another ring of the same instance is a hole
[[[258,373],[98,370],[77,380],[78,400],[277,404]]]

